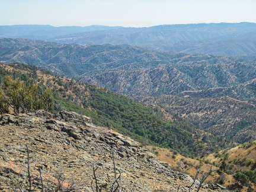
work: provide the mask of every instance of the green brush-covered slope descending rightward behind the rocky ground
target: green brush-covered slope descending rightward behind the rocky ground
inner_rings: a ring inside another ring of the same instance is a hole
[[[110,127],[130,136],[142,145],[159,145],[187,155],[216,152],[233,144],[199,127],[162,111],[158,107],[135,103],[107,89],[61,78],[36,66],[0,65],[1,81],[5,75],[34,81],[52,89],[55,110],[76,111],[91,117],[92,123]],[[207,140],[202,140],[207,136]]]

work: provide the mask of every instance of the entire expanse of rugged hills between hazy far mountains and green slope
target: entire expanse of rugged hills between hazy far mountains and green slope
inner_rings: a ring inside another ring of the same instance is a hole
[[[170,54],[131,46],[79,46],[1,39],[0,60],[76,76],[239,142],[255,140],[252,58]],[[139,97],[137,96],[139,95]]]

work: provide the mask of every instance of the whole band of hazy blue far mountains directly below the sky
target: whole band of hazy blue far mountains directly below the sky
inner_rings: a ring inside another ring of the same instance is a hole
[[[0,26],[0,38],[77,44],[129,44],[168,52],[249,56],[256,52],[255,23],[158,25],[153,27]]]

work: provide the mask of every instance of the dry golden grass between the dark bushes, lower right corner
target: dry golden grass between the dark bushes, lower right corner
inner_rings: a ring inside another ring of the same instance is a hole
[[[168,162],[171,165],[172,169],[184,172],[190,175],[192,178],[194,177],[194,175],[196,175],[197,167],[200,164],[201,164],[201,171],[204,171],[204,172],[209,171],[211,166],[213,167],[213,169],[219,169],[218,167],[221,165],[221,162],[223,161],[223,159],[225,159],[226,153],[228,153],[227,155],[228,158],[226,158],[225,160],[226,162],[232,161],[232,159],[235,159],[235,158],[242,159],[245,157],[248,159],[252,159],[252,161],[254,161],[254,163],[252,163],[249,166],[243,167],[241,165],[235,165],[232,169],[233,172],[240,171],[243,169],[254,170],[256,167],[256,142],[254,142],[252,146],[249,146],[249,148],[245,148],[242,145],[240,145],[229,150],[220,151],[219,157],[216,156],[217,153],[212,153],[210,155],[204,156],[203,158],[196,158],[196,159],[185,157],[180,154],[174,154],[169,149],[158,148],[153,146],[145,146],[145,148],[151,151],[152,153],[155,153],[160,161]],[[210,164],[207,164],[206,162],[209,162]],[[213,166],[213,164],[217,165],[217,167]],[[228,187],[229,185],[235,184],[235,180],[233,179],[233,176],[231,174],[229,175],[225,174],[225,176],[226,176],[226,179],[224,181],[223,186]],[[219,174],[215,172],[207,178],[206,182],[216,183],[217,177],[219,177]],[[247,191],[247,188],[244,187],[241,191]]]

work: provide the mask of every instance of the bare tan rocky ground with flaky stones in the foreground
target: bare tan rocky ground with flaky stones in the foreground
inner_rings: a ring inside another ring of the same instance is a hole
[[[91,119],[73,112],[4,114],[0,117],[0,132],[1,191],[14,191],[19,186],[28,190],[27,165],[33,176],[31,184],[38,191],[41,183],[44,190],[59,184],[93,191],[95,168],[98,186],[105,191],[115,181],[114,168],[117,177],[121,174],[119,190],[123,191],[188,191],[193,183],[190,176],[173,171],[169,164],[160,162],[129,137],[94,126]],[[204,185],[200,191],[226,190]]]

